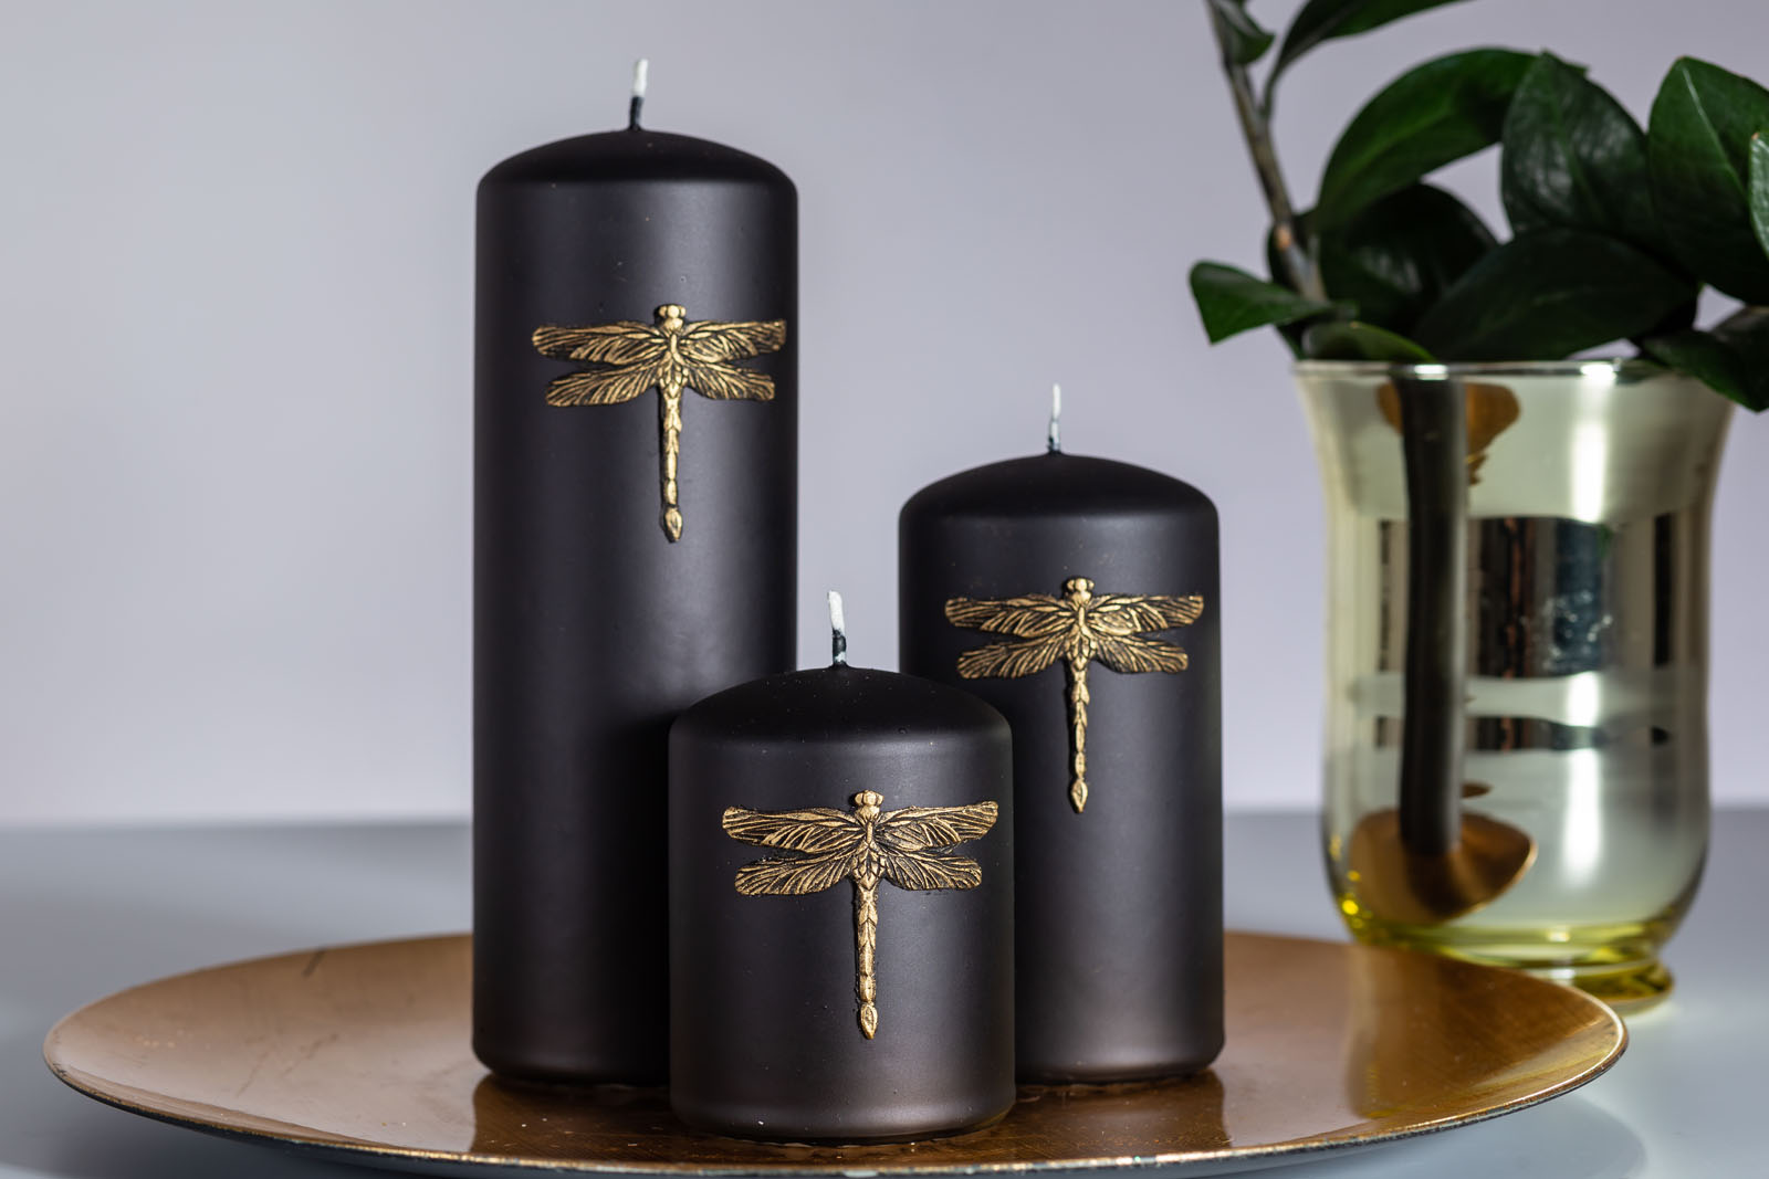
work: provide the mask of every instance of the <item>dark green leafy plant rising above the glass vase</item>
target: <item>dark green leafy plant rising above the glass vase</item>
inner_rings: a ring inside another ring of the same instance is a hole
[[[1279,42],[1245,0],[1205,0],[1272,214],[1270,279],[1192,267],[1210,341],[1277,327],[1298,357],[1558,361],[1631,341],[1734,401],[1769,408],[1769,90],[1677,60],[1645,131],[1551,53],[1467,49],[1382,88],[1290,200],[1270,122],[1298,57],[1461,0],[1309,0]],[[1251,67],[1277,44],[1263,88]],[[1500,150],[1512,237],[1428,184]],[[1742,306],[1698,329],[1702,286]]]

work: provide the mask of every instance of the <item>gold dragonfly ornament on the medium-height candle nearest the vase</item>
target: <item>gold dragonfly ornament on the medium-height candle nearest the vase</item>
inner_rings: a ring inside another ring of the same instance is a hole
[[[1079,815],[1088,804],[1088,665],[1113,672],[1183,672],[1185,650],[1146,638],[1143,631],[1191,626],[1205,612],[1198,594],[1095,594],[1090,578],[1063,582],[1063,596],[973,599],[946,603],[946,620],[976,631],[1014,635],[959,656],[964,679],[1037,675],[1058,659],[1068,668],[1068,730],[1074,755],[1068,801]]]

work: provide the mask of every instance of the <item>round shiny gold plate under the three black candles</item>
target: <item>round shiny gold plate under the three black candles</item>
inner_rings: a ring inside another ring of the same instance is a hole
[[[1622,1053],[1601,1002],[1398,949],[1231,933],[1228,1046],[1201,1076],[1026,1089],[994,1126],[812,1147],[686,1130],[660,1091],[504,1085],[472,1057],[469,939],[258,958],[69,1015],[44,1057],[110,1105],[416,1170],[906,1175],[1281,1161],[1567,1092]]]

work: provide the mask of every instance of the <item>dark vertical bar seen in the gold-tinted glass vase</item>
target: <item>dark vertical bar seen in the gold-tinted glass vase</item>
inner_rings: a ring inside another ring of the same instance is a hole
[[[1467,741],[1468,419],[1459,380],[1394,378],[1406,463],[1406,698],[1401,845],[1442,856],[1461,836]]]

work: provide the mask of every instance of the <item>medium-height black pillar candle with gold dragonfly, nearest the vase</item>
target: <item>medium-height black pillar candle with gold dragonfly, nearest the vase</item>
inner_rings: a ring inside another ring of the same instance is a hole
[[[1014,726],[1019,1076],[1182,1075],[1222,1046],[1217,514],[1053,453],[918,491],[900,665]]]

